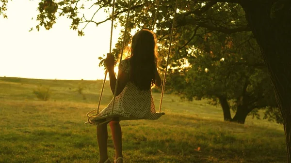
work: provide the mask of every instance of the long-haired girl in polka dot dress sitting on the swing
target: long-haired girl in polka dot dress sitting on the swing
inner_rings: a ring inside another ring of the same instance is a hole
[[[150,30],[140,30],[131,40],[130,57],[122,60],[118,70],[118,86],[113,115],[136,119],[159,119],[163,113],[156,113],[151,87],[161,86],[161,77],[157,70],[156,36]],[[116,76],[114,58],[107,54],[105,59],[109,71],[110,87],[114,93]],[[99,114],[98,118],[111,115],[113,100]],[[109,122],[115,148],[114,163],[123,163],[122,136],[118,119]],[[107,123],[97,125],[97,141],[100,161],[112,163],[107,154]]]

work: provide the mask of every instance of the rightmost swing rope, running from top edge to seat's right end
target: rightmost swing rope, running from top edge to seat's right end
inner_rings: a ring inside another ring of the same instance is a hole
[[[165,70],[165,74],[164,74],[164,78],[163,78],[163,82],[162,82],[162,93],[161,93],[161,100],[160,100],[160,107],[159,107],[159,112],[160,113],[161,113],[161,110],[162,110],[162,98],[163,98],[163,94],[164,94],[167,70],[168,70],[168,65],[169,65],[169,58],[170,58],[170,53],[171,53],[171,46],[172,46],[172,39],[173,39],[173,29],[174,29],[175,18],[176,18],[176,13],[177,13],[177,2],[178,2],[178,0],[176,0],[176,5],[175,5],[175,13],[174,13],[174,17],[173,17],[171,36],[170,36],[170,46],[169,46],[168,55],[167,55],[167,62],[166,62],[166,70]]]

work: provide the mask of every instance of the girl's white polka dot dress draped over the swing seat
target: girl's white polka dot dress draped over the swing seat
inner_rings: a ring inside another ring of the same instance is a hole
[[[120,62],[120,69],[129,73],[129,59]],[[128,82],[122,92],[115,97],[112,114],[113,99],[99,114],[98,118],[120,115],[137,119],[159,119],[163,113],[156,113],[151,90],[140,90],[132,82]]]

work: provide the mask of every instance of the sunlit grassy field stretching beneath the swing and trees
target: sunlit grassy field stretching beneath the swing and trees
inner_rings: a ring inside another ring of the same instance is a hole
[[[84,122],[97,108],[101,84],[0,77],[0,163],[97,163],[96,127]],[[40,85],[50,87],[49,101],[33,94]],[[77,91],[83,86],[84,96]],[[153,96],[158,106],[160,94]],[[106,85],[101,108],[112,97]],[[287,162],[279,124],[251,117],[244,125],[224,122],[220,107],[170,94],[162,111],[159,120],[121,122],[125,163]],[[113,158],[111,134],[108,147]]]

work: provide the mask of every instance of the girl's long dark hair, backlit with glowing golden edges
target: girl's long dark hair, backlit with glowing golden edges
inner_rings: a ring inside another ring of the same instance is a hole
[[[158,55],[156,43],[156,35],[151,30],[140,30],[132,37],[129,81],[140,90],[149,90],[154,85]]]

